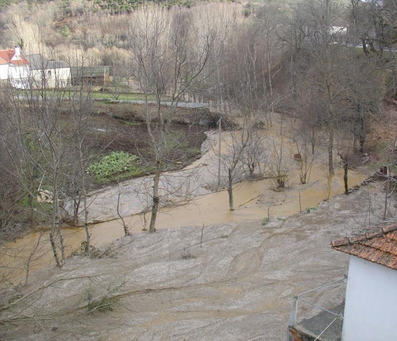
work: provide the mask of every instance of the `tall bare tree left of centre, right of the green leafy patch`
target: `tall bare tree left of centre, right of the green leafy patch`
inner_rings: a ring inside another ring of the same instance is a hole
[[[145,95],[145,122],[155,155],[153,205],[149,232],[155,231],[160,205],[160,178],[167,169],[170,151],[180,141],[171,132],[178,102],[183,94],[203,80],[216,34],[207,25],[194,30],[190,15],[180,9],[170,11],[145,6],[135,12],[134,25],[128,27],[129,51],[133,60],[134,78]],[[194,46],[194,48],[192,48]],[[212,71],[206,71],[211,74]],[[170,97],[168,113],[162,111],[162,98]],[[149,102],[155,98],[155,106]],[[174,158],[175,160],[175,158]]]

